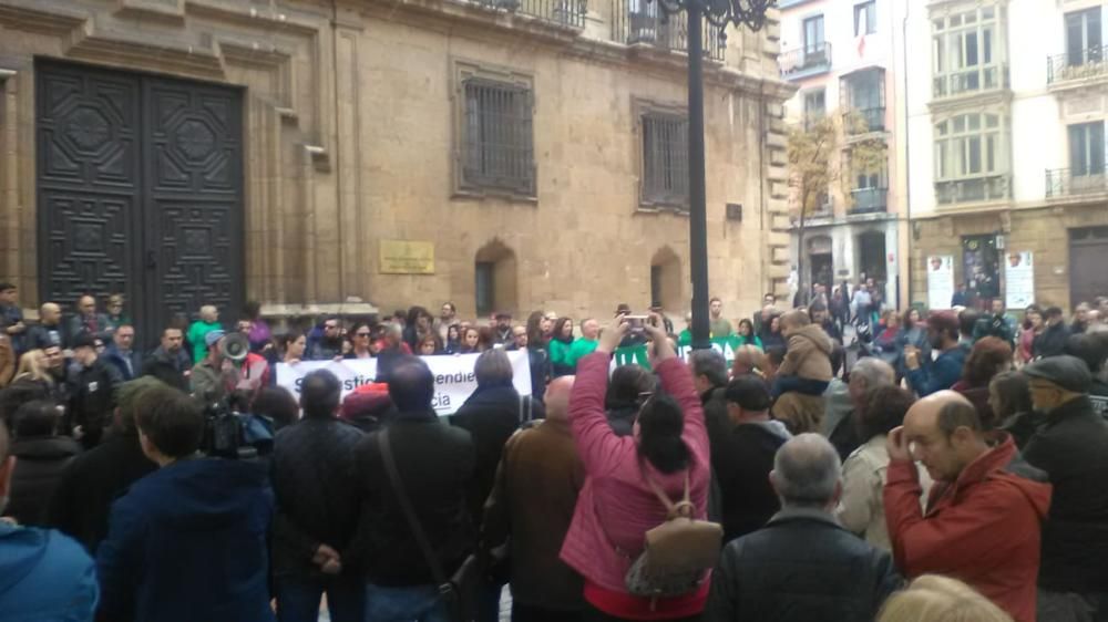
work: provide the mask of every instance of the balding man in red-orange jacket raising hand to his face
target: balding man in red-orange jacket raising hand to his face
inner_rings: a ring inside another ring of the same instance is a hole
[[[1009,436],[991,445],[976,408],[952,391],[916,402],[886,447],[885,521],[896,566],[907,578],[961,579],[1017,622],[1034,622],[1046,475],[1018,459]],[[935,480],[926,512],[913,457]]]

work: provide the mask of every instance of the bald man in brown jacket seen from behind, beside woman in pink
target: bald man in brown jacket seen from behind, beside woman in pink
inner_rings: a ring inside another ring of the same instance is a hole
[[[570,530],[585,467],[570,429],[574,376],[546,388],[546,419],[504,445],[496,483],[485,505],[482,542],[512,539],[512,619],[572,622],[584,607],[582,580],[558,559]]]

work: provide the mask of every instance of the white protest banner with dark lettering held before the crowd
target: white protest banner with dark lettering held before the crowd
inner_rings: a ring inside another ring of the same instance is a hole
[[[512,384],[521,395],[531,395],[531,365],[525,351],[505,352],[512,362]],[[452,415],[478,388],[473,365],[480,354],[420,356],[434,375],[432,405],[439,416]],[[343,361],[304,361],[289,365],[277,364],[277,385],[300,400],[300,383],[308,372],[328,370],[342,383],[342,397],[377,377],[377,359]]]

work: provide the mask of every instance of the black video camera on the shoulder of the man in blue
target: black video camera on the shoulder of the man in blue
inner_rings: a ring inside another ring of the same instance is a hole
[[[269,417],[243,412],[248,400],[238,392],[204,408],[201,452],[235,460],[256,459],[273,452],[274,424]]]

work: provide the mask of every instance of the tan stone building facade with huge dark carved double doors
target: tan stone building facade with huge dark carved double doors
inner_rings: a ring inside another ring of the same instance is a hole
[[[684,33],[650,7],[0,0],[0,274],[28,308],[124,291],[148,323],[246,299],[679,313]],[[708,246],[738,314],[784,289],[792,90],[774,19],[727,34]]]

